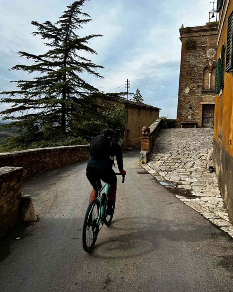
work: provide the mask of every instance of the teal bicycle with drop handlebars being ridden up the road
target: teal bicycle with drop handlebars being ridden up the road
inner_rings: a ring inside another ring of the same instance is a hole
[[[125,175],[122,173],[116,173],[116,175],[122,175],[122,183],[124,183]],[[87,253],[90,253],[93,250],[98,233],[102,226],[104,224],[109,226],[113,218],[113,214],[106,214],[106,203],[108,200],[109,184],[104,183],[104,185],[101,187],[100,182],[97,181],[96,185],[98,189],[98,197],[97,199],[92,200],[91,203],[88,205],[83,223],[82,241],[84,251],[86,251]],[[104,193],[101,196],[102,190],[104,190]],[[114,211],[115,204],[112,208]]]

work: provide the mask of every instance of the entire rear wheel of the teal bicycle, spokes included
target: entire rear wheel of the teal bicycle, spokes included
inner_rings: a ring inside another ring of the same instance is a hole
[[[97,224],[98,214],[100,210],[100,202],[94,199],[89,204],[83,223],[83,248],[84,251],[90,253],[94,246],[99,232],[99,225]]]

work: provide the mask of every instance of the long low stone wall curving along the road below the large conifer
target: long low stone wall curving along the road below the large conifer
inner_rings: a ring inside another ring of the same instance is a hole
[[[28,176],[50,168],[86,160],[89,155],[89,145],[29,149],[0,153],[0,167],[22,167],[27,171]]]

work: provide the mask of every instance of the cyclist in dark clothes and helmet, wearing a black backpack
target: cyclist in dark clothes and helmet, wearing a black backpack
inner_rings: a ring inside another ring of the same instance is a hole
[[[113,215],[116,201],[116,184],[117,178],[112,166],[114,164],[114,156],[116,156],[119,172],[126,175],[123,168],[123,158],[121,147],[114,142],[115,132],[112,129],[104,129],[101,135],[91,140],[90,154],[86,168],[86,176],[93,187],[90,194],[89,203],[98,197],[98,189],[100,188],[100,180],[109,184],[107,215]],[[98,183],[97,183],[98,182]]]

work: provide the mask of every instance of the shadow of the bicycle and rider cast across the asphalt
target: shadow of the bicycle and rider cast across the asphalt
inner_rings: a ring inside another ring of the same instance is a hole
[[[231,248],[233,247],[232,240],[216,228],[213,233],[212,226],[190,225],[189,223],[173,222],[172,220],[161,220],[154,217],[128,217],[117,219],[112,222],[110,229],[114,234],[119,234],[115,237],[109,237],[107,240],[97,244],[91,253],[91,256],[100,259],[124,259],[134,258],[152,253],[159,249],[160,244],[169,245],[169,241],[190,242],[190,249],[193,252],[196,250],[195,243],[205,241],[215,241],[216,237],[225,237]],[[195,245],[195,248],[192,246]],[[211,247],[208,247],[211,250]],[[211,253],[211,251],[209,251]],[[214,253],[213,246],[213,253]],[[232,260],[233,252],[230,248],[224,253],[230,253],[222,256],[222,259]],[[221,258],[219,258],[221,260]],[[233,267],[228,270],[233,271]]]

